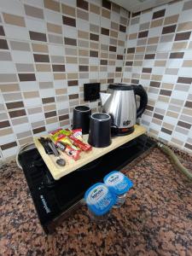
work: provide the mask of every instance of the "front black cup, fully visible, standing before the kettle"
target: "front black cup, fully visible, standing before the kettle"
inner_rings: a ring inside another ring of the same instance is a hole
[[[105,148],[111,144],[111,116],[108,113],[90,115],[88,143],[96,148]]]

